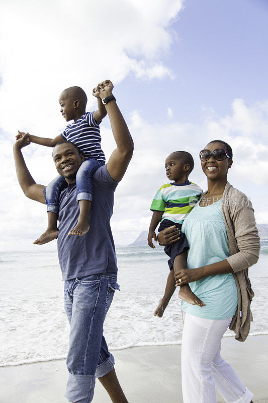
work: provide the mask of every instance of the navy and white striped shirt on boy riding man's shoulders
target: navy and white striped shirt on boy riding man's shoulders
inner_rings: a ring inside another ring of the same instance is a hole
[[[75,122],[68,124],[61,137],[74,143],[86,160],[96,159],[105,162],[101,148],[100,122],[96,122],[93,115],[94,112],[86,112]]]

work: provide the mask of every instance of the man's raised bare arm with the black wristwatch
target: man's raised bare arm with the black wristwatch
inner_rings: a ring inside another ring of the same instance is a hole
[[[104,99],[112,95],[113,84],[110,80],[100,83],[94,89],[94,95]],[[128,164],[133,154],[133,140],[130,136],[128,126],[117,106],[116,101],[109,101],[106,105],[106,110],[111,122],[113,135],[116,141],[117,148],[113,151],[108,163],[107,170],[114,180],[121,180],[127,170]]]

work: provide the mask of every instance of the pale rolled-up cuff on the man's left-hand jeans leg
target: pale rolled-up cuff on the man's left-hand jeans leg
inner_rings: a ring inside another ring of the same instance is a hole
[[[90,403],[94,396],[96,377],[69,373],[65,397],[75,403]]]

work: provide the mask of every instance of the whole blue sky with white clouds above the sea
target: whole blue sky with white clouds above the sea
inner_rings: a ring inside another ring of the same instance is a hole
[[[190,180],[206,189],[198,156],[216,139],[233,149],[230,183],[251,198],[257,223],[268,223],[266,0],[2,0],[0,16],[1,250],[56,249],[56,241],[32,244],[46,228],[46,209],[19,187],[17,130],[56,137],[66,125],[61,91],[81,86],[95,110],[92,89],[105,79],[135,144],[115,193],[117,245],[148,229],[172,151],[193,155]],[[108,117],[101,134],[108,160],[115,148]],[[23,150],[37,183],[56,176],[51,153],[35,144]]]

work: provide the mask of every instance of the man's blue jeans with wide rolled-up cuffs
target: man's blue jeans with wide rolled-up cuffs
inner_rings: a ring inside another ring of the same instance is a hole
[[[69,401],[90,403],[96,377],[108,374],[114,367],[114,357],[103,335],[103,323],[115,290],[119,290],[116,273],[65,281],[64,307],[70,323],[65,397]]]

